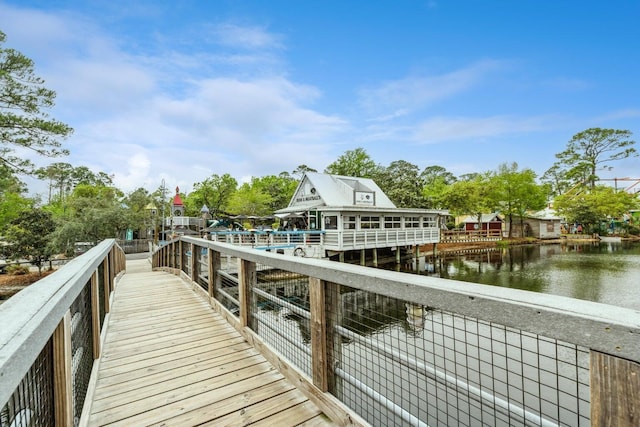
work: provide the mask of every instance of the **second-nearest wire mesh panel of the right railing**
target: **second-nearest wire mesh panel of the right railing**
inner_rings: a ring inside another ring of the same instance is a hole
[[[255,325],[260,337],[311,376],[309,277],[258,264]]]

